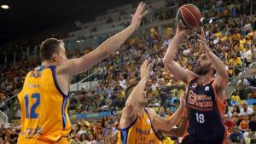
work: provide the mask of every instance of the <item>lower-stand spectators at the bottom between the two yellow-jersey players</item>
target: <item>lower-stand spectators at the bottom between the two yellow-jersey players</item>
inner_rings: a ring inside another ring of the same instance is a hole
[[[71,144],[111,144],[116,143],[118,139],[119,116],[104,116],[102,119],[93,120],[91,122],[85,119],[77,120],[73,124],[73,130],[68,139]]]

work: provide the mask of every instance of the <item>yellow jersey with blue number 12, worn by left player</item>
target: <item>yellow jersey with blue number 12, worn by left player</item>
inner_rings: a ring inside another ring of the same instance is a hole
[[[38,66],[28,72],[20,94],[19,144],[67,143],[72,130],[65,95],[56,82],[55,66]]]

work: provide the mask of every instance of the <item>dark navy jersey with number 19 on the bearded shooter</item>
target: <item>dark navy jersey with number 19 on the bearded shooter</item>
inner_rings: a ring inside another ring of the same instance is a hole
[[[197,84],[195,78],[189,82],[186,104],[189,118],[189,135],[196,141],[224,141],[225,128],[222,114],[225,105],[216,97],[212,82]]]

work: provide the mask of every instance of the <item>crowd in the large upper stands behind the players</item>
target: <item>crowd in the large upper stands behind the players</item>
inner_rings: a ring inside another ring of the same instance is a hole
[[[197,2],[195,5],[198,5],[205,15],[205,30],[210,48],[224,61],[230,78],[237,76],[253,62],[255,57],[253,55],[256,46],[255,17],[246,15],[249,14],[247,3],[237,1],[234,5],[229,1],[215,3],[215,1],[209,0],[205,3]],[[212,21],[208,24],[207,20],[211,19]],[[200,33],[200,31],[197,32]],[[104,65],[101,65],[102,77],[99,78],[102,80],[95,89],[81,90],[73,94],[79,95],[74,96],[71,102],[74,112],[97,112],[123,107],[124,89],[139,79],[138,68],[144,59],[150,59],[152,62],[151,78],[148,82],[150,103],[152,105],[162,104],[165,109],[171,107],[175,110],[175,107],[172,106],[177,105],[176,97],[182,95],[183,84],[170,76],[162,63],[162,58],[174,33],[170,27],[167,27],[163,33],[159,33],[157,28],[153,27],[143,36],[131,37],[116,54],[104,60]],[[23,43],[21,48],[26,48],[26,44]],[[19,48],[17,44],[15,47]],[[74,58],[81,55],[84,55],[84,52],[71,51],[68,57]],[[195,33],[192,33],[180,44],[176,60],[181,66],[193,71],[196,57],[199,55],[201,55],[201,49],[196,42]],[[22,87],[26,72],[39,64],[39,60],[28,60],[23,56],[19,57],[15,65],[12,63],[2,64],[0,66],[0,101],[17,94]],[[86,74],[75,76],[73,83],[85,76]],[[244,81],[247,82],[244,83]],[[247,90],[244,93],[243,89],[239,88],[244,85],[247,88],[253,87],[255,85],[254,78],[244,78],[242,83],[237,84],[238,88],[232,95],[235,97],[238,95],[240,99],[253,98],[255,95],[252,91]],[[250,94],[249,97],[248,94]],[[158,103],[157,101],[160,100],[172,102],[171,104],[170,102]]]

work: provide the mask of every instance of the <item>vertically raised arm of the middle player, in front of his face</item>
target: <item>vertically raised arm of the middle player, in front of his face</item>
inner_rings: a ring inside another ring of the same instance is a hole
[[[126,103],[125,103],[125,108],[122,111],[122,120],[129,120],[132,117],[136,116],[136,111],[135,108],[137,107],[137,97],[138,96],[143,96],[145,93],[144,89],[146,86],[146,83],[148,81],[148,78],[150,76],[150,65],[148,63],[148,60],[145,60],[143,62],[143,65],[141,66],[141,80],[137,84],[137,86],[132,89],[131,95],[129,95]]]

